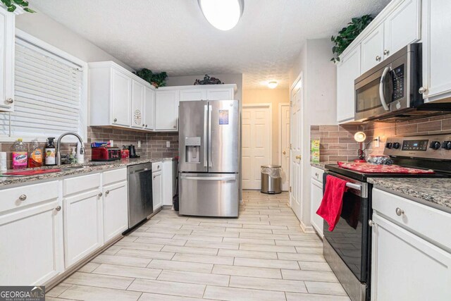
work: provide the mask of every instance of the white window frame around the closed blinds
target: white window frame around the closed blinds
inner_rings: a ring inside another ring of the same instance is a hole
[[[77,57],[68,54],[66,51],[63,51],[57,47],[52,46],[51,44],[42,41],[41,39],[37,39],[37,37],[30,35],[23,30],[19,30],[16,28],[16,35],[14,37],[14,45],[16,45],[16,39],[22,39],[25,42],[35,45],[39,49],[42,49],[43,52],[50,52],[55,56],[58,56],[62,61],[69,61],[70,63],[74,63],[82,68],[82,92],[80,98],[80,115],[79,115],[79,128],[78,135],[80,135],[83,139],[83,142],[87,141],[87,127],[88,127],[88,64],[85,61],[78,59]],[[13,55],[14,67],[16,67],[16,55]],[[16,93],[16,91],[15,91]],[[61,133],[63,134],[63,133]],[[24,142],[32,142],[36,140],[38,142],[46,142],[46,135],[15,135],[11,133],[11,135],[0,135],[1,142],[14,142],[18,138],[23,138]],[[56,137],[58,139],[58,137]],[[78,139],[72,136],[65,137],[64,142],[78,142]]]

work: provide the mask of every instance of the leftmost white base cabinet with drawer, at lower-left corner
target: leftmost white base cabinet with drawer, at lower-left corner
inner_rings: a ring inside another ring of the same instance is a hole
[[[42,285],[63,271],[63,211],[56,183],[0,190],[1,285]]]

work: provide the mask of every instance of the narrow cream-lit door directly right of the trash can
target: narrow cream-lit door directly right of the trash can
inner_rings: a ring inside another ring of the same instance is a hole
[[[290,104],[280,104],[280,166],[282,166],[282,190],[290,189]]]

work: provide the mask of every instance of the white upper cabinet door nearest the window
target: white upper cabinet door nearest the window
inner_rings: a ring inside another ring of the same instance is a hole
[[[111,70],[111,124],[131,125],[132,79],[118,70]]]

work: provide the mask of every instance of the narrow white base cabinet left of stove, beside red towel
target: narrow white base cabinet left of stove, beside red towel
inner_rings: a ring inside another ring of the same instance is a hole
[[[311,201],[311,226],[323,238],[323,218],[316,214],[321,200],[323,199],[323,173],[319,168],[311,167],[311,185],[310,185],[310,201]]]

